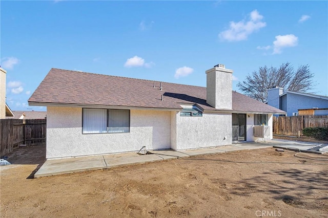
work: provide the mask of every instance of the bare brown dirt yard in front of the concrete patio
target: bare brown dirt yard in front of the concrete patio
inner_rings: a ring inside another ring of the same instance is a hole
[[[0,168],[1,217],[328,217],[328,156],[294,154],[243,150],[29,179],[45,147],[19,148]]]

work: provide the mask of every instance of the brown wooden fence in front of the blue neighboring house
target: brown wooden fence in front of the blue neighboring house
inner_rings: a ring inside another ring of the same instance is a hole
[[[298,136],[303,128],[328,126],[328,115],[273,117],[273,134]]]

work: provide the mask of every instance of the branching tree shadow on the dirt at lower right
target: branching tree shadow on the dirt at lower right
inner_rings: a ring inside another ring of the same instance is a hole
[[[297,196],[292,194],[295,190]],[[328,170],[313,172],[291,168],[262,172],[260,176],[241,180],[232,193],[245,196],[266,192],[275,200],[299,202],[303,197],[315,195],[316,190],[328,190]],[[328,197],[313,200],[328,200]]]

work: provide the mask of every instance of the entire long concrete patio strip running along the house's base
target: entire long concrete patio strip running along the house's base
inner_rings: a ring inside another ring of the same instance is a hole
[[[190,156],[208,155],[225,153],[245,149],[259,149],[272,146],[279,147],[295,147],[295,149],[302,148],[302,150],[309,149],[314,145],[311,143],[300,143],[291,141],[276,141],[270,140],[267,142],[259,143],[238,143],[228,146],[218,146],[212,148],[199,148],[193,150],[156,150],[151,151],[154,154],[138,155],[136,152],[124,154],[112,154],[104,156],[88,156],[78,158],[56,159],[47,160],[35,173],[34,178],[52,176],[71,172],[80,172],[95,169],[105,169],[117,166],[125,166],[131,164],[142,164],[146,162],[163,161],[176,159],[177,157],[188,158]]]

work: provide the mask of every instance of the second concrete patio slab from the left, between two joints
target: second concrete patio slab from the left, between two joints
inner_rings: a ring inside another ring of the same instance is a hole
[[[136,153],[126,153],[119,155],[105,155],[104,160],[107,164],[107,168],[111,168],[131,164],[162,161],[163,158],[157,155],[138,155]]]

